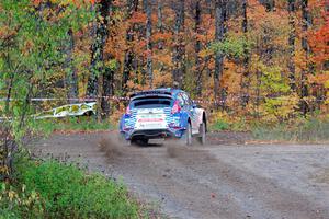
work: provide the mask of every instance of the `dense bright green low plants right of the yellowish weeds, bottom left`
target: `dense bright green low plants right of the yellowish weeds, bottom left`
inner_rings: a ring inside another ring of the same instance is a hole
[[[21,165],[19,173],[19,182],[29,193],[36,191],[36,197],[45,204],[39,217],[138,218],[140,209],[122,184],[88,175],[76,165],[30,161]]]

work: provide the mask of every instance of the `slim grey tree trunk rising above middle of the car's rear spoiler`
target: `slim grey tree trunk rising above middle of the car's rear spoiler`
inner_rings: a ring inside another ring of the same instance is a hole
[[[147,76],[149,80],[149,87],[154,87],[154,73],[152,73],[152,45],[151,45],[151,33],[152,33],[152,23],[151,23],[151,0],[145,0],[146,1],[146,49],[147,49],[147,61],[146,61],[146,68],[147,68]]]

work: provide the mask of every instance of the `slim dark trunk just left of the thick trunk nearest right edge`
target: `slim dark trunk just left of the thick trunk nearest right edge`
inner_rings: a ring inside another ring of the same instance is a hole
[[[288,0],[288,14],[290,14],[290,35],[288,35],[288,70],[290,70],[290,87],[293,92],[296,91],[296,77],[295,77],[295,38],[296,38],[296,27],[295,27],[295,0]]]

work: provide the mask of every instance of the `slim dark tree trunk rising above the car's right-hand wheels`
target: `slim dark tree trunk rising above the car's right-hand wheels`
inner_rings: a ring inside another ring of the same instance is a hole
[[[198,34],[200,33],[200,25],[201,25],[201,2],[200,0],[196,1],[195,3],[195,18],[194,18],[195,26],[194,26],[194,32],[196,34],[196,39],[195,39],[195,77],[196,77],[196,94],[200,96],[202,93],[202,71],[201,71],[201,60],[198,57],[198,53],[201,51],[201,42],[198,39]]]

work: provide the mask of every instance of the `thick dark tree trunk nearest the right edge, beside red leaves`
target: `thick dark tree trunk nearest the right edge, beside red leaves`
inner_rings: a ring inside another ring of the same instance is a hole
[[[309,60],[309,54],[310,54],[310,48],[309,48],[309,45],[307,42],[307,36],[306,36],[306,32],[310,27],[310,18],[309,18],[309,13],[308,13],[308,0],[302,0],[302,19],[303,19],[302,30],[304,33],[304,36],[302,37],[302,47],[303,47],[303,50],[305,51],[305,59],[306,59],[307,64],[306,64],[306,68],[303,69],[302,73],[300,73],[300,100],[302,100],[300,101],[300,110],[302,110],[303,115],[306,115],[306,113],[309,110],[305,97],[308,96],[307,71],[309,68],[308,60]]]

